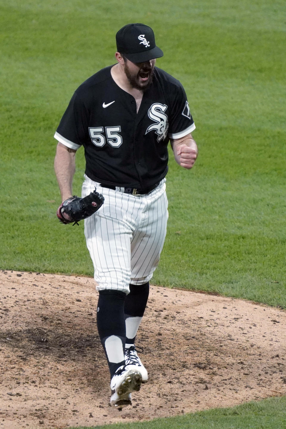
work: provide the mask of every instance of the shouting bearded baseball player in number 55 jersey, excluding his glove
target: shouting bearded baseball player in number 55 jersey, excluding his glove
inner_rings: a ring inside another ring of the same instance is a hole
[[[84,234],[99,291],[97,328],[111,375],[110,402],[121,409],[148,380],[135,337],[166,236],[167,145],[170,140],[185,169],[193,167],[198,149],[183,86],[155,67],[163,51],[153,30],[128,24],[116,44],[117,63],[73,94],[54,135],[54,167],[65,201],[72,196],[75,153],[84,146],[81,196],[96,188],[104,197],[84,220]]]

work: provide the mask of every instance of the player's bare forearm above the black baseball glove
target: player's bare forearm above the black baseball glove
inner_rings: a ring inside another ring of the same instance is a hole
[[[54,158],[54,171],[62,201],[72,196],[72,179],[75,174],[75,151],[58,143]]]

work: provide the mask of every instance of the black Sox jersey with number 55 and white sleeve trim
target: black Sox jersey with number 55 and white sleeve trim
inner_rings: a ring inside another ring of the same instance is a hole
[[[72,149],[84,146],[90,179],[146,188],[168,171],[169,139],[195,129],[187,96],[177,79],[154,67],[137,113],[134,97],[114,82],[111,67],[79,86],[54,137]]]

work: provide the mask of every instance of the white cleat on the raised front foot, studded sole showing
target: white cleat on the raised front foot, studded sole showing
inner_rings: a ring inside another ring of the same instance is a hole
[[[110,405],[121,410],[126,405],[131,405],[131,392],[138,392],[142,383],[142,376],[136,369],[126,369],[120,366],[111,378]]]

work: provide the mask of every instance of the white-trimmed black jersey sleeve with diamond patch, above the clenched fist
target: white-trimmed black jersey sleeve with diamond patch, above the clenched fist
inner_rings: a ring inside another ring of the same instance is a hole
[[[168,137],[170,139],[180,139],[191,133],[196,126],[190,112],[187,95],[181,83],[176,88],[173,98]]]

